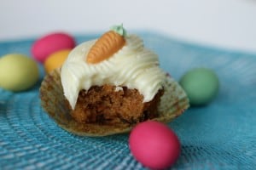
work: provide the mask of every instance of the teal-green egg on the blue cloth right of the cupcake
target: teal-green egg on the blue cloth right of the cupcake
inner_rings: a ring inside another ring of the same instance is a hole
[[[207,105],[218,94],[218,77],[207,68],[186,72],[180,85],[188,94],[190,105]]]

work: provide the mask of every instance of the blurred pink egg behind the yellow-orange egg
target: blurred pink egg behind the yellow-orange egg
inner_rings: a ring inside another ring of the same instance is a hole
[[[61,49],[72,49],[76,45],[74,38],[64,32],[55,32],[39,38],[32,44],[32,56],[41,63]]]

